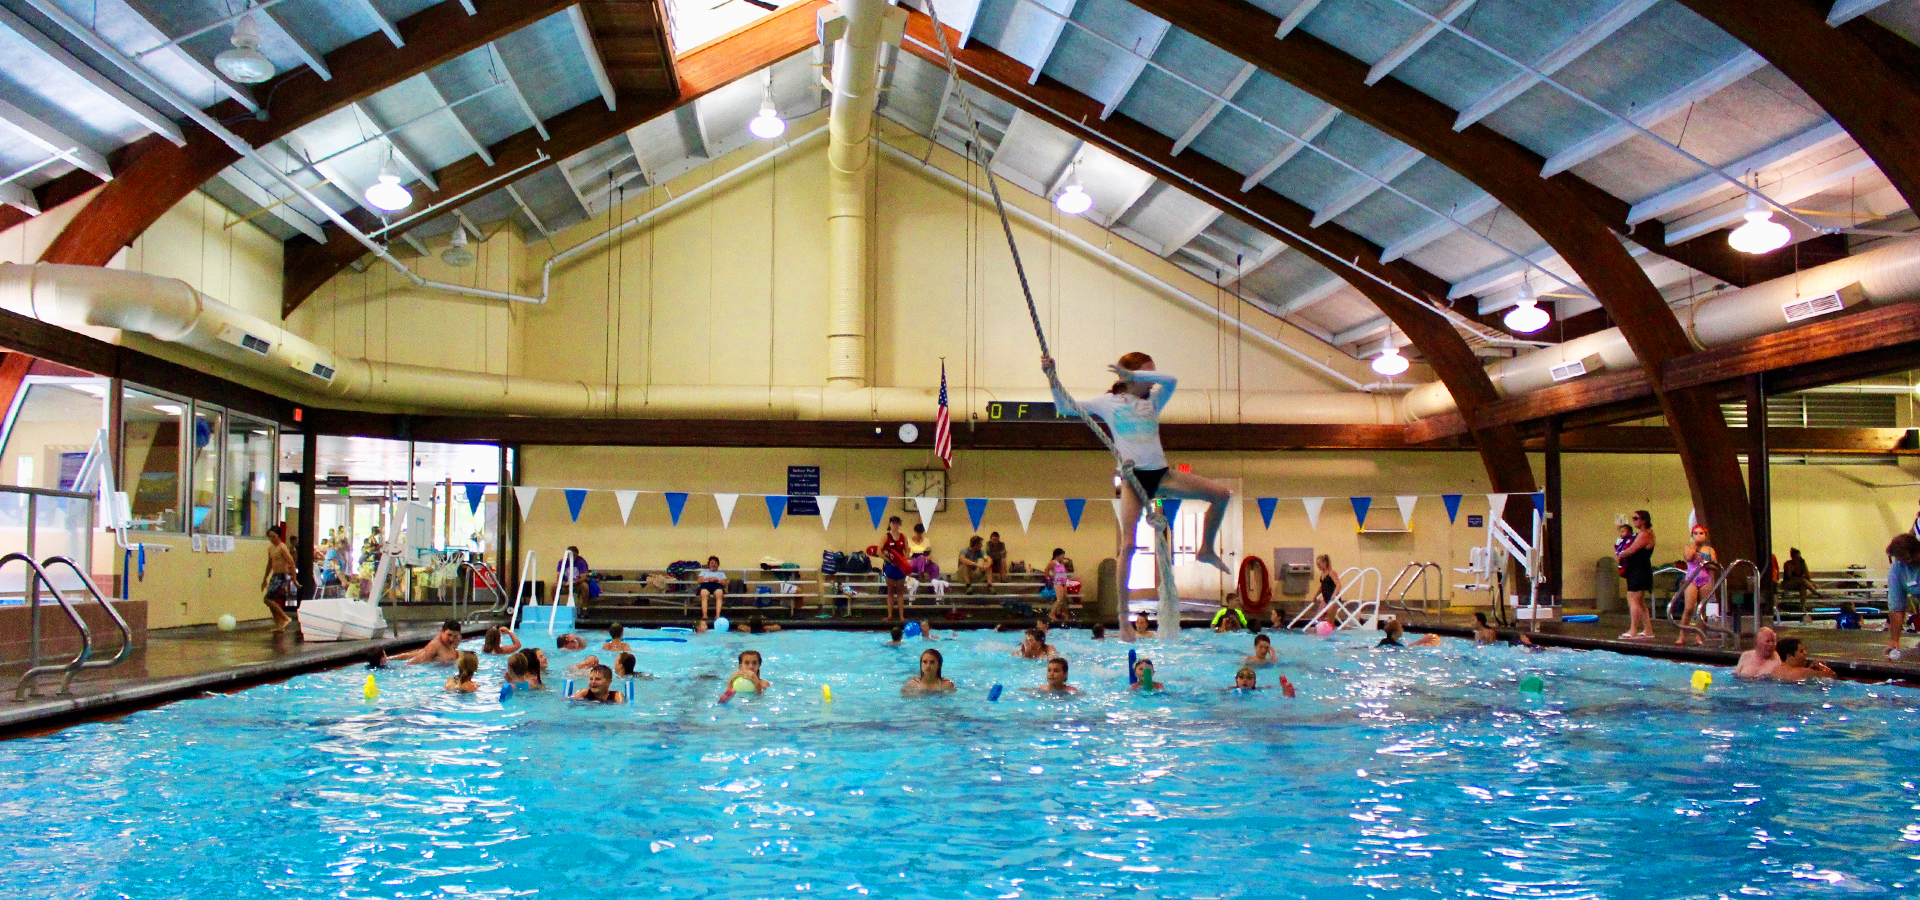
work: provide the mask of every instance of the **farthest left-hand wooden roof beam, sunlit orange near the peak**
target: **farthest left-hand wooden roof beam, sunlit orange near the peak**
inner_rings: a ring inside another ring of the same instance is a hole
[[[480,15],[474,19],[486,17],[492,6],[488,0],[478,2]],[[440,180],[440,190],[415,196],[415,205],[424,209],[474,190],[501,190],[520,178],[545,171],[561,159],[570,159],[607,140],[618,138],[641,123],[672,113],[780,59],[801,54],[818,44],[814,19],[824,6],[828,6],[826,0],[804,0],[783,6],[780,12],[768,13],[745,29],[682,54],[674,59],[680,81],[678,94],[630,94],[618,111],[607,109],[595,98],[549,119],[547,130],[553,134],[551,140],[540,140],[534,129],[526,129],[488,148],[493,154],[493,165],[486,165],[472,155],[445,165],[434,173],[434,178]],[[461,15],[461,19],[467,17]],[[340,67],[336,65],[336,69]],[[334,232],[334,225],[328,225],[328,232]],[[338,238],[340,234],[334,236]],[[292,313],[307,296],[321,284],[326,284],[340,269],[359,259],[359,248],[348,248],[338,240],[324,246],[303,240],[290,242],[280,294],[282,313]]]

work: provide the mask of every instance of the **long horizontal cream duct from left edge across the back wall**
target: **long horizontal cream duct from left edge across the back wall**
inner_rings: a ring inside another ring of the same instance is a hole
[[[780,386],[607,388],[586,382],[515,378],[340,357],[288,334],[275,322],[207,297],[186,282],[90,265],[0,263],[0,309],[61,328],[119,328],[179,343],[292,388],[317,401],[346,401],[399,411],[526,416],[624,418],[760,418],[760,420],[893,420],[920,422],[933,409],[933,388],[822,390]],[[979,390],[987,403],[1035,403],[1037,388]],[[1388,393],[1286,393],[1181,390],[1167,422],[1394,424],[1400,397]]]

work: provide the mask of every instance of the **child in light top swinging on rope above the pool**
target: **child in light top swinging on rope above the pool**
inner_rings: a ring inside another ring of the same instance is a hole
[[[1219,551],[1213,547],[1213,537],[1219,535],[1219,524],[1227,520],[1227,501],[1233,497],[1233,491],[1219,482],[1200,478],[1192,472],[1167,468],[1167,455],[1160,449],[1160,411],[1167,407],[1169,399],[1173,399],[1173,388],[1179,380],[1171,374],[1156,372],[1154,357],[1133,351],[1119,357],[1119,365],[1108,367],[1119,378],[1108,393],[1098,399],[1079,403],[1060,388],[1052,357],[1043,355],[1041,368],[1046,370],[1046,380],[1054,388],[1054,405],[1060,413],[1071,416],[1091,414],[1106,422],[1108,430],[1114,434],[1114,449],[1123,461],[1133,464],[1133,478],[1140,482],[1142,489],[1146,489],[1148,499],[1177,497],[1208,503],[1206,530],[1202,532],[1200,549],[1194,553],[1194,560],[1215,566],[1233,576],[1227,564],[1221,562]],[[1119,566],[1116,580],[1121,585],[1121,597],[1127,593],[1127,574],[1133,568],[1133,533],[1140,522],[1140,497],[1135,495],[1131,487],[1121,489],[1119,551],[1116,555],[1116,562]],[[1121,606],[1125,606],[1125,603]]]

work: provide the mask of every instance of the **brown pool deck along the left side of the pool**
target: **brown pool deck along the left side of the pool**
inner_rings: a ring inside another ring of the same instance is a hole
[[[54,731],[75,722],[119,716],[205,691],[234,691],[278,681],[301,672],[340,666],[367,651],[413,651],[438,631],[434,622],[403,622],[399,637],[374,641],[303,643],[288,631],[261,624],[236,631],[169,628],[148,631],[138,647],[113,668],[83,672],[73,693],[54,695],[58,677],[38,679],[38,697],[13,699],[23,664],[0,666],[0,739]],[[472,626],[470,633],[484,631]]]

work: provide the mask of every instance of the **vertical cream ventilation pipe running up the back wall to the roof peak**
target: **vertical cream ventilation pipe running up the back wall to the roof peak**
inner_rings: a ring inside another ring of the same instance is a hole
[[[868,207],[874,201],[874,106],[879,48],[899,44],[906,10],[841,0],[820,10],[820,44],[833,48],[828,117],[828,388],[866,388]]]

